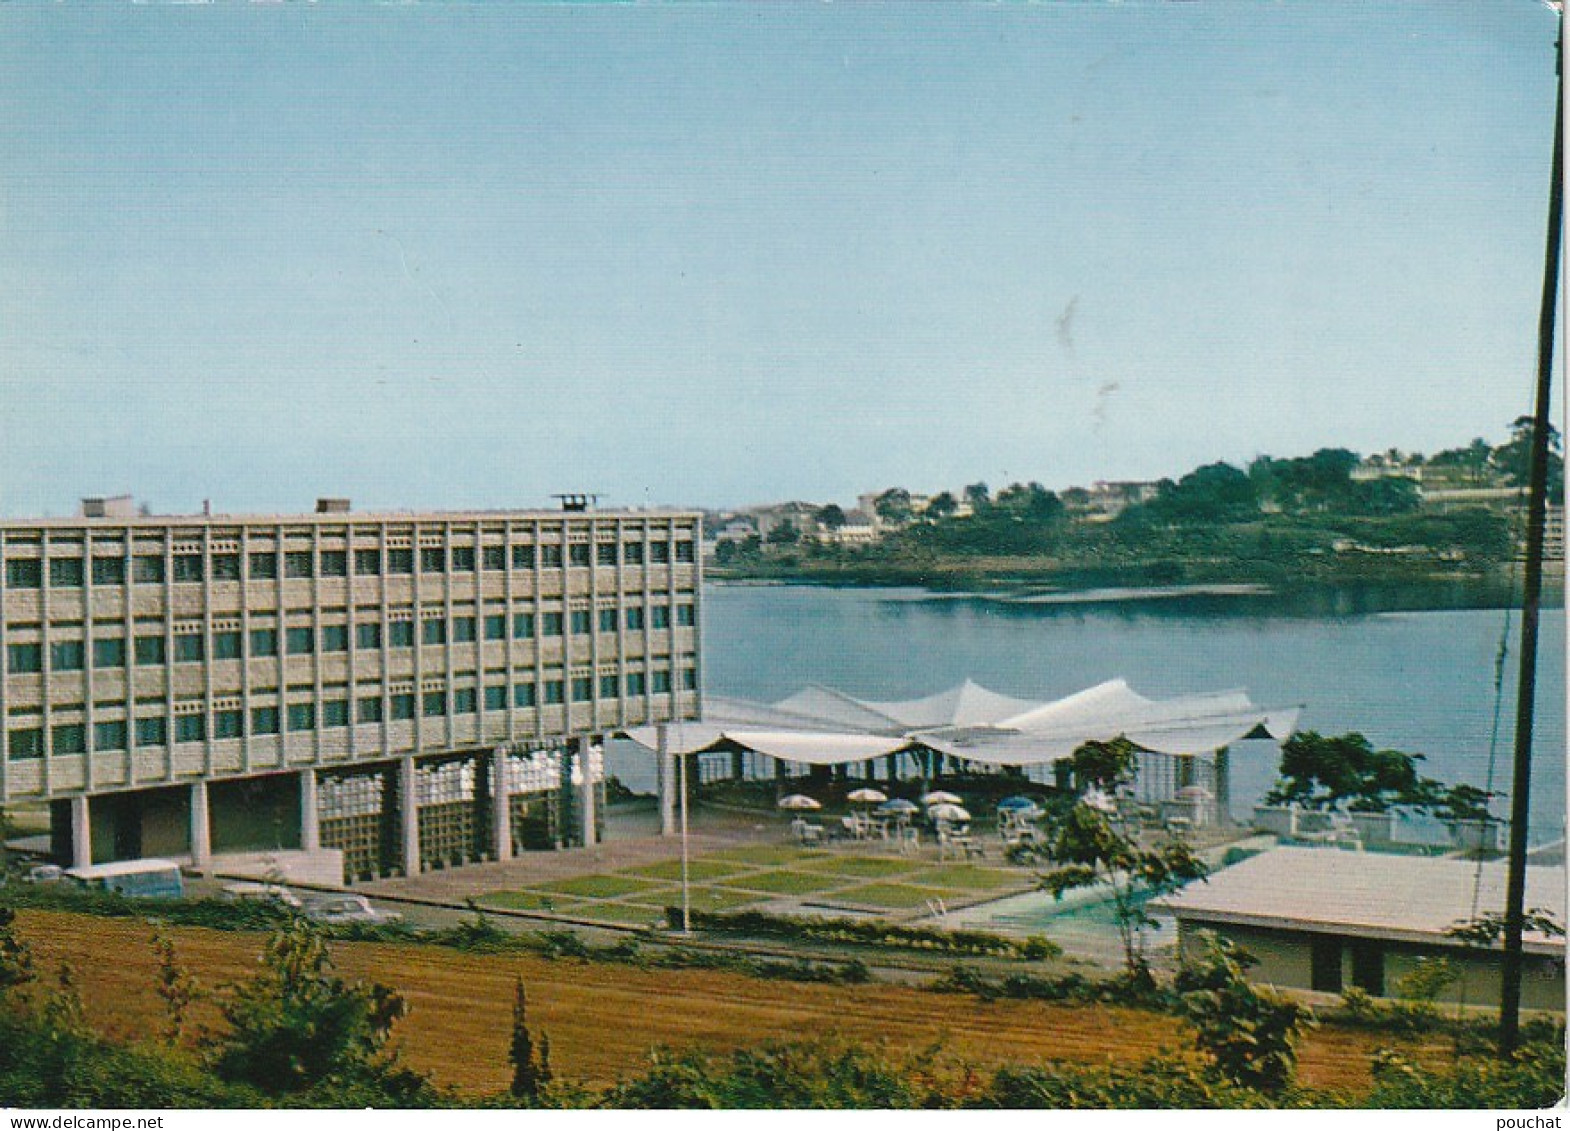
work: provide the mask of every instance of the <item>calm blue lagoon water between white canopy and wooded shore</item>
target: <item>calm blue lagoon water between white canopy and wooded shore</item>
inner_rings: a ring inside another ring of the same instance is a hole
[[[1422,773],[1484,785],[1504,609],[1380,611],[1367,594],[1311,602],[1193,595],[1101,603],[1011,602],[922,589],[711,584],[705,682],[711,694],[779,699],[807,683],[901,699],[969,677],[1049,699],[1123,677],[1174,696],[1243,688],[1264,705],[1303,705],[1300,726],[1360,730],[1422,752]],[[1495,787],[1509,789],[1520,616],[1509,614]],[[1565,825],[1565,617],[1543,614],[1532,774],[1534,842]],[[617,759],[620,760],[620,759]],[[1270,787],[1270,743],[1234,748],[1232,807]],[[633,784],[633,782],[630,782]],[[1507,812],[1507,801],[1496,812]]]

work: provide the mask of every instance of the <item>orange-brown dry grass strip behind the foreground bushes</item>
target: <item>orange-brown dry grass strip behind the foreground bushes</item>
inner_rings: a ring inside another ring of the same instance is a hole
[[[157,1030],[162,1012],[148,924],[22,911],[19,925],[46,979],[60,961],[75,968],[89,1018],[104,1032],[124,1038]],[[204,986],[248,977],[262,946],[253,933],[166,933]],[[586,1084],[637,1071],[656,1046],[728,1049],[838,1035],[917,1052],[942,1041],[948,1056],[991,1067],[1134,1060],[1187,1045],[1179,1021],[1116,1007],[980,1002],[911,986],[798,985],[429,946],[339,942],[333,953],[347,975],[377,979],[405,994],[410,1015],[397,1035],[413,1067],[440,1084],[474,1092],[506,1087],[515,975],[529,991],[531,1027],[550,1034],[557,1073]],[[199,1019],[217,1024],[212,1010]],[[1313,1085],[1361,1089],[1369,1081],[1369,1054],[1389,1043],[1388,1035],[1317,1029],[1302,1049],[1302,1076]],[[1411,1051],[1422,1059],[1446,1054],[1440,1043]]]

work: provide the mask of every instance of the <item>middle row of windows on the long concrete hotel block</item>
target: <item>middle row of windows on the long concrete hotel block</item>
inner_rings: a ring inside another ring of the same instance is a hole
[[[655,605],[650,611],[650,625],[653,628],[669,628],[670,627],[670,606]],[[677,624],[681,627],[691,627],[696,622],[697,613],[691,605],[677,605]],[[630,630],[639,630],[644,627],[644,609],[630,608],[625,614],[626,627]],[[617,609],[603,608],[600,616],[595,619],[589,609],[573,609],[570,619],[565,622],[570,625],[575,636],[587,635],[592,631],[592,625],[598,622],[600,631],[615,631],[617,627]],[[419,638],[421,644],[447,644],[447,620],[425,619],[419,622]],[[498,641],[507,639],[507,617],[501,613],[484,617],[484,625],[476,617],[454,617],[452,619],[452,644],[473,644],[477,638],[476,633],[484,627],[485,639]],[[539,631],[542,636],[560,636],[564,630],[562,613],[542,613],[539,617]],[[532,639],[535,633],[535,617],[532,613],[515,613],[512,617],[512,638],[513,639]],[[382,647],[382,624],[378,620],[367,620],[355,625],[355,647],[358,649],[380,649]],[[312,625],[295,625],[284,628],[284,650],[289,655],[309,655],[312,652],[347,652],[349,650],[349,625],[322,625],[320,635],[317,635]],[[250,657],[275,657],[278,655],[278,630],[276,628],[253,628],[250,641]],[[386,647],[413,647],[414,646],[414,622],[413,620],[392,620],[388,624],[386,631]],[[163,636],[137,636],[132,641],[132,655],[138,666],[141,664],[165,664],[168,663],[168,649],[165,647]],[[176,633],[174,636],[174,663],[199,663],[207,658],[207,649],[204,638],[199,633]],[[215,631],[212,635],[212,658],[214,660],[242,660],[242,636],[239,631],[226,630]],[[31,674],[41,672],[44,669],[44,646],[38,642],[14,642],[6,646],[6,664],[11,674]],[[86,644],[83,641],[53,641],[49,646],[49,668],[50,671],[66,672],[66,671],[82,671],[86,666]],[[104,636],[93,641],[93,666],[94,668],[124,668],[126,666],[126,641],[118,636]]]

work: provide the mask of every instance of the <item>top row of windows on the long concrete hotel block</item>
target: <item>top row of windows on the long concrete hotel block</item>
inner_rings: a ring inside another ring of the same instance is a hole
[[[692,561],[691,542],[648,542],[648,561],[664,566],[670,561],[670,547],[675,545],[678,562]],[[567,566],[642,566],[644,542],[619,544],[575,542],[565,547]],[[545,569],[562,567],[564,548],[559,545],[517,545],[512,547],[513,569],[534,569],[535,550],[539,564]],[[165,580],[163,558],[160,555],[141,555],[130,559],[130,578],[137,583],[162,583]],[[203,569],[203,555],[177,553],[171,559],[174,581],[201,581],[204,573],[214,581],[240,580],[240,555],[217,553],[210,558],[207,570]],[[281,566],[279,566],[281,562]],[[446,547],[424,547],[418,551],[411,548],[388,550],[383,559],[382,550],[355,550],[353,566],[356,576],[382,573],[414,573],[416,562],[419,573],[473,572],[476,567],[487,570],[507,569],[507,547],[482,547],[476,558],[474,547],[452,547],[451,556]],[[278,576],[279,569],[286,578],[311,576],[349,576],[350,556],[347,550],[259,550],[246,556],[246,578],[265,581]],[[385,566],[385,569],[383,569]],[[80,589],[85,583],[86,567],[82,558],[50,558],[49,584],[55,589]],[[39,589],[44,584],[44,561],[38,558],[11,558],[5,564],[5,583],[13,589]],[[94,558],[93,584],[118,586],[126,584],[124,558]]]

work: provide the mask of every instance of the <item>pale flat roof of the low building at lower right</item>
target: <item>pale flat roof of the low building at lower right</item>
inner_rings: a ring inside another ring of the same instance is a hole
[[[1481,867],[1481,873],[1479,873]],[[1502,914],[1504,862],[1397,856],[1341,848],[1273,848],[1157,902],[1179,921],[1353,935],[1460,946],[1444,935],[1477,914]],[[1526,869],[1526,908],[1565,921],[1565,867]],[[1565,941],[1528,932],[1534,953],[1562,955]]]

